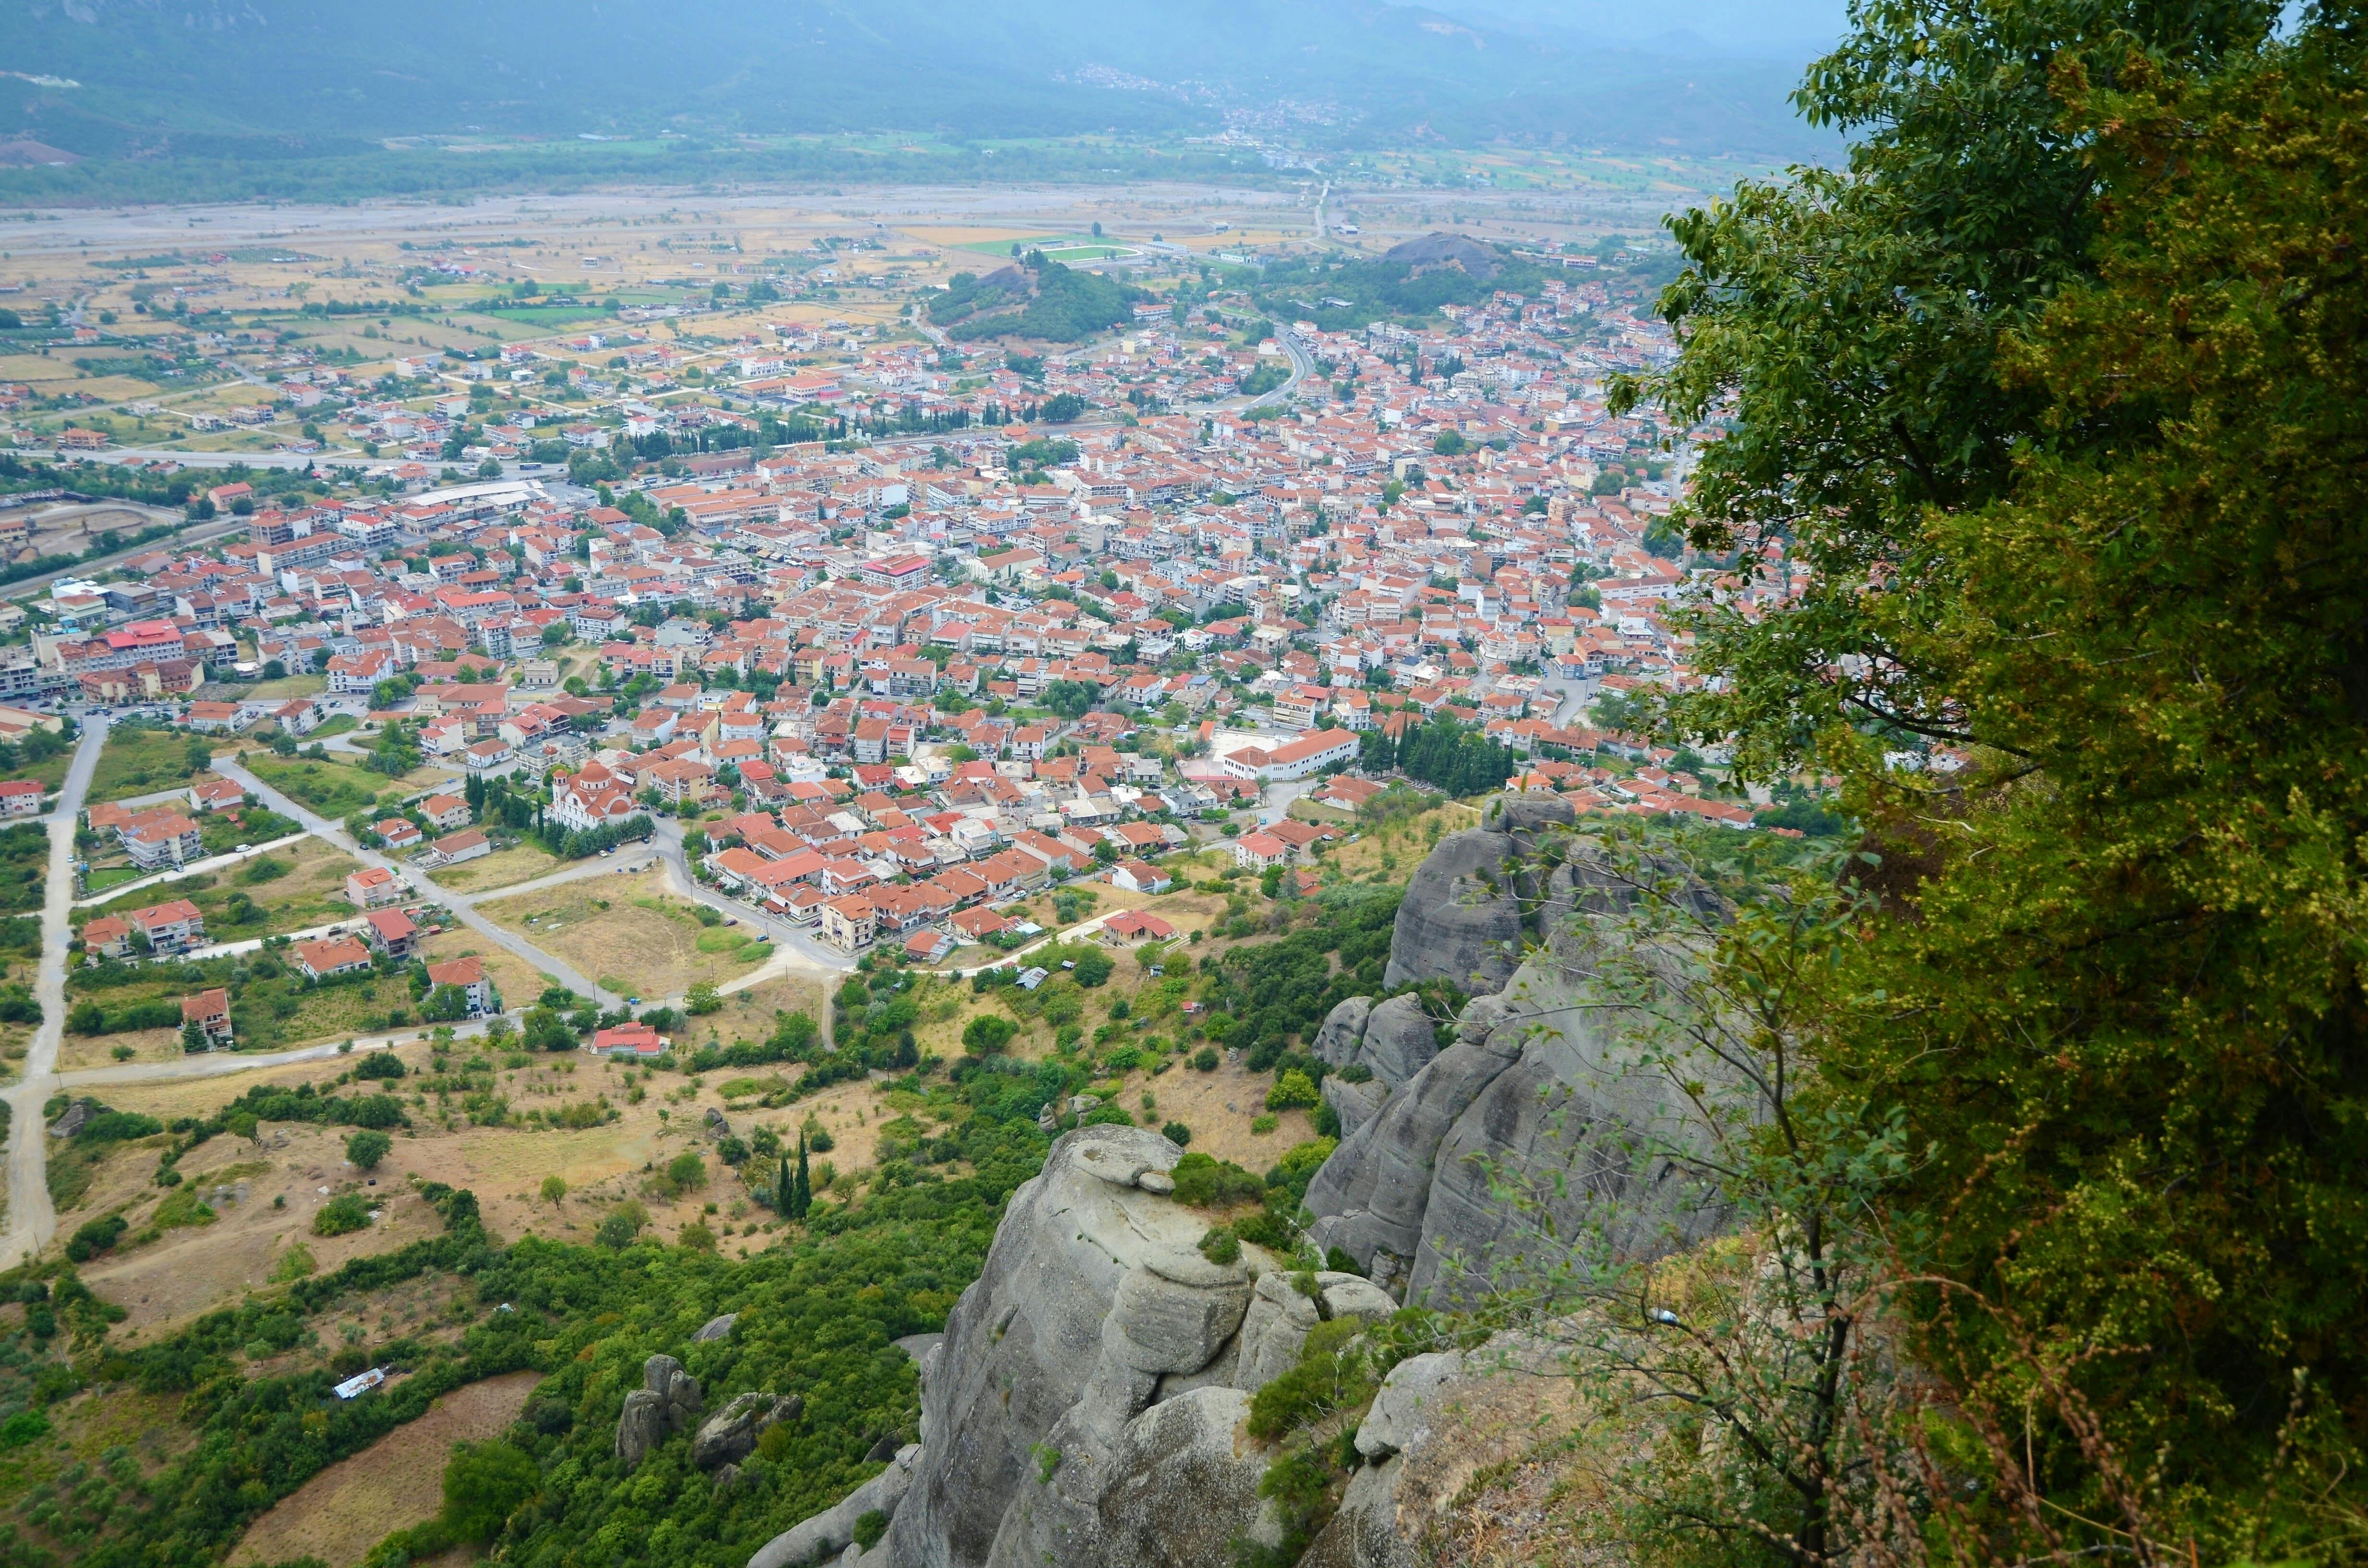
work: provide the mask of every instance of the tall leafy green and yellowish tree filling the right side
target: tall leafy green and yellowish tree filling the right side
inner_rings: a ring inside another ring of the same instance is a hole
[[[1802,587],[1703,606],[1672,725],[1840,772],[1883,862],[1804,1052],[1904,1132],[1868,1225],[1977,1438],[1890,1549],[2359,1561],[2363,17],[1857,21],[1852,171],[1679,225],[1646,391],[1733,398],[1691,545]]]

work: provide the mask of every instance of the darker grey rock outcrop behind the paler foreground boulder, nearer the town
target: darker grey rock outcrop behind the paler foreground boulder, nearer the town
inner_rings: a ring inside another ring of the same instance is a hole
[[[1376,1045],[1385,1016],[1418,1007],[1411,995],[1343,1002],[1317,1035],[1326,1061],[1373,1078],[1324,1082],[1343,1142],[1307,1189],[1312,1234],[1407,1300],[1556,1267],[1575,1244],[1648,1255],[1724,1225],[1710,1194],[1653,1156],[1700,1137],[1693,1106],[1617,1014],[1575,1007],[1587,955],[1568,917],[1610,891],[1584,846],[1553,831],[1568,822],[1561,801],[1501,798],[1414,874],[1388,981],[1499,976],[1444,1052],[1409,1049],[1397,1023]],[[1508,1184],[1527,1208],[1494,1191]]]

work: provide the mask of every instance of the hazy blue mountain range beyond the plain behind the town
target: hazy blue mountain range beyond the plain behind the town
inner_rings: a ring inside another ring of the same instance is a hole
[[[1175,130],[1324,99],[1352,135],[1778,147],[1788,71],[1539,43],[1371,0],[33,0],[0,130],[85,154],[189,137],[938,128]],[[71,78],[76,88],[26,76]]]

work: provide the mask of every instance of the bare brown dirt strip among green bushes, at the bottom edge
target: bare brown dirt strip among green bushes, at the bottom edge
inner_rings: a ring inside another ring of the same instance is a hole
[[[443,1466],[452,1445],[500,1435],[526,1409],[526,1395],[540,1379],[538,1371],[509,1371],[455,1388],[429,1414],[282,1497],[249,1525],[227,1559],[230,1568],[298,1556],[348,1568],[391,1530],[426,1523],[443,1509]]]

